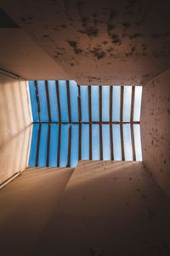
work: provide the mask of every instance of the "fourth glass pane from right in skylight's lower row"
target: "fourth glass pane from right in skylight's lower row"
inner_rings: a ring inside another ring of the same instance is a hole
[[[111,160],[110,125],[102,125],[103,159]]]

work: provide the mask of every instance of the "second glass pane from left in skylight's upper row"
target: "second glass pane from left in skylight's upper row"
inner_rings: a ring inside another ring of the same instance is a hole
[[[48,122],[48,107],[45,90],[45,81],[37,81],[37,90],[40,101],[40,120],[42,122]]]

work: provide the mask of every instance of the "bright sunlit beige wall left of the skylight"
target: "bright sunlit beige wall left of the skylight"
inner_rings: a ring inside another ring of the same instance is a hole
[[[31,111],[24,80],[0,74],[0,183],[26,169]]]

